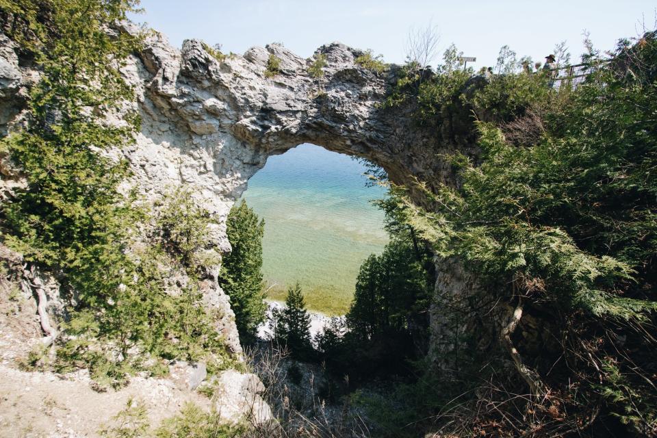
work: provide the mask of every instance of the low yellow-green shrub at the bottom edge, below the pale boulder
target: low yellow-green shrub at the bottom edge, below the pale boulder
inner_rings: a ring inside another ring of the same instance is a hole
[[[155,430],[156,438],[237,438],[243,437],[246,427],[226,424],[216,412],[205,412],[196,404],[185,404],[181,413],[168,418]]]

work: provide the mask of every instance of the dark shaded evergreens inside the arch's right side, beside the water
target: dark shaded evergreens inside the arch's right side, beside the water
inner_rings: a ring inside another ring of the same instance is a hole
[[[389,198],[377,204],[385,211],[390,242],[361,265],[346,318],[333,318],[314,339],[326,369],[348,376],[348,387],[408,376],[409,359],[426,344],[433,261],[407,224],[405,207]]]

